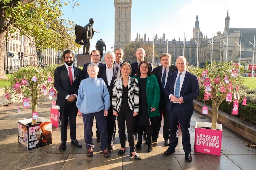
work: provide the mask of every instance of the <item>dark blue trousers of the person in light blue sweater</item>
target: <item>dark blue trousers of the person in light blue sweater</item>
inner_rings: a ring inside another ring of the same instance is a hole
[[[107,130],[107,119],[104,116],[104,110],[96,113],[83,114],[84,121],[84,140],[86,143],[86,148],[91,148],[92,145],[92,123],[95,116],[96,126],[100,131],[100,148],[105,150],[108,148],[108,130]]]

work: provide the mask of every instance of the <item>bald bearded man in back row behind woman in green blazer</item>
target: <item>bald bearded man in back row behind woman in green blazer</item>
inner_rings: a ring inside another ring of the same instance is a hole
[[[132,73],[130,74],[131,77],[137,73],[140,62],[144,60],[144,57],[146,56],[145,50],[143,48],[138,48],[135,56],[137,57],[137,61],[134,63],[131,63],[131,67],[132,67]],[[149,66],[152,71],[153,70],[152,64],[149,63]]]

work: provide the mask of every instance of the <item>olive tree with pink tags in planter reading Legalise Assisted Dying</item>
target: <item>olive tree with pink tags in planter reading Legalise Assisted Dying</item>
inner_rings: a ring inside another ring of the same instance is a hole
[[[205,91],[204,100],[212,100],[212,123],[196,123],[194,151],[221,155],[222,126],[217,124],[218,108],[223,100],[231,102],[234,96],[237,98],[238,110],[239,87],[243,84],[244,67],[232,62],[214,61],[202,69],[193,66],[188,66],[187,69],[198,77],[199,87]]]

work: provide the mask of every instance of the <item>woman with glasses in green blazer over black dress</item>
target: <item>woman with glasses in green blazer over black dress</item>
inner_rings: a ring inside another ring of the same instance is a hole
[[[139,83],[139,114],[137,116],[138,142],[137,149],[141,148],[142,134],[145,130],[148,137],[148,152],[152,147],[152,124],[159,116],[160,88],[155,75],[152,75],[149,63],[142,61],[139,64],[136,78]]]

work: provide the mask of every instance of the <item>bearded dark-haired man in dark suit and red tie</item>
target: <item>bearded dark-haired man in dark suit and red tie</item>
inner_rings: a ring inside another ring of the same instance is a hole
[[[60,106],[61,120],[61,144],[60,151],[66,149],[67,142],[67,123],[70,120],[70,138],[71,144],[81,148],[82,145],[76,140],[76,98],[78,87],[83,78],[81,69],[74,67],[74,54],[70,50],[63,53],[65,64],[57,67],[54,73],[54,87],[58,91],[56,104]]]

